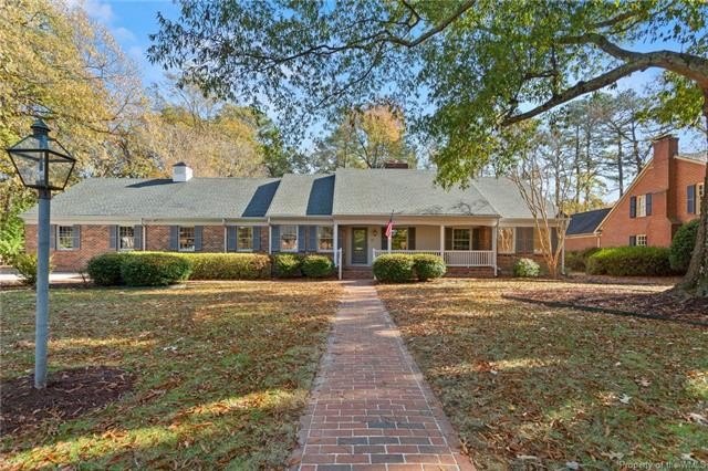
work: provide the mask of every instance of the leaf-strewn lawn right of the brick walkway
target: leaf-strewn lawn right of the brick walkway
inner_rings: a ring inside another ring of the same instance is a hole
[[[708,329],[500,297],[533,284],[378,285],[477,465],[708,465]]]

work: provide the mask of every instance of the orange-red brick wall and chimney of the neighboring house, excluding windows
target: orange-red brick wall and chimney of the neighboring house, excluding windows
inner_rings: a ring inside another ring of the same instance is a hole
[[[677,154],[674,137],[654,143],[653,160],[603,223],[601,247],[628,245],[637,234],[646,234],[648,245],[669,247],[676,229],[698,217],[686,211],[686,187],[704,181],[706,166],[674,158]],[[629,218],[629,198],[646,193],[652,193],[652,214]]]

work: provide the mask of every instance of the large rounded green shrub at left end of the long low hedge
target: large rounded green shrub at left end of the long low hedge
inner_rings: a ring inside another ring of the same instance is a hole
[[[167,286],[185,281],[191,273],[187,258],[175,253],[131,253],[121,264],[128,286]]]

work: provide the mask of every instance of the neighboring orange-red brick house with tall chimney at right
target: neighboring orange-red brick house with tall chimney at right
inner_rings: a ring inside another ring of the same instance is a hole
[[[705,154],[679,154],[674,136],[657,139],[654,156],[614,207],[571,217],[566,250],[669,247],[681,224],[700,217],[705,176]]]

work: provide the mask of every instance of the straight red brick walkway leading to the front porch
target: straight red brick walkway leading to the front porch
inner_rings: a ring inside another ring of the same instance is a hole
[[[371,282],[344,284],[292,470],[473,470]]]

